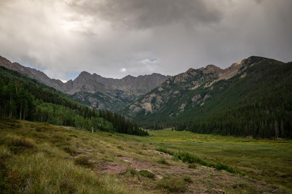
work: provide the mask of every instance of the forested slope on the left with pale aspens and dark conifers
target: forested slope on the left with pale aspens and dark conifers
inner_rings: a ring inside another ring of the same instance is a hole
[[[47,122],[82,130],[148,135],[124,116],[78,103],[56,89],[0,66],[0,117]]]

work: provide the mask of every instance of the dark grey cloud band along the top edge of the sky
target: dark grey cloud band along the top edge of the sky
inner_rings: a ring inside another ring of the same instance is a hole
[[[203,0],[74,0],[69,1],[68,6],[82,16],[97,17],[113,27],[134,29],[178,22],[212,23],[218,22],[223,15],[220,3]]]

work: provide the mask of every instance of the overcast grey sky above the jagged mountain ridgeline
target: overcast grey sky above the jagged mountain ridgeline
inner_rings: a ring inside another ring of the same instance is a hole
[[[291,0],[0,0],[0,55],[63,81],[292,61]]]

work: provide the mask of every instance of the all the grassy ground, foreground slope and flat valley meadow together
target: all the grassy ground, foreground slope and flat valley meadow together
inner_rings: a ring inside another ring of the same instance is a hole
[[[171,129],[150,133],[153,136],[119,133],[109,136],[107,132],[92,134],[38,122],[0,119],[0,193],[211,193],[213,188],[226,193],[272,191],[250,177],[269,181],[283,193],[291,192],[289,140],[249,140]],[[189,152],[208,163],[226,163],[246,172],[247,176],[198,163],[188,168],[187,163],[175,156],[161,156],[151,151],[159,147],[174,154]],[[82,149],[93,151],[86,153]],[[143,163],[148,167],[143,166],[145,171],[139,171],[123,157],[136,161],[138,167]],[[272,158],[277,160],[270,161]],[[103,164],[111,163],[124,165],[126,172],[111,175],[98,170]],[[277,177],[270,176],[274,172],[278,173]],[[157,179],[151,178],[153,175]]]

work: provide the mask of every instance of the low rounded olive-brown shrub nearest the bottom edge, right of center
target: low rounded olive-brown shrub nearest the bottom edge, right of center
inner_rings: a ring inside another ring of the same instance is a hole
[[[168,176],[156,182],[157,188],[162,188],[167,192],[185,192],[187,191],[187,182],[181,177]]]

